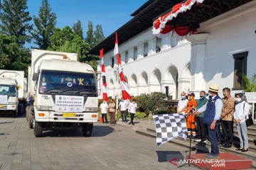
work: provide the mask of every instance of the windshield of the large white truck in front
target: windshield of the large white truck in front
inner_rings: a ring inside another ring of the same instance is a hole
[[[43,94],[95,94],[96,81],[90,73],[43,70],[39,91]]]

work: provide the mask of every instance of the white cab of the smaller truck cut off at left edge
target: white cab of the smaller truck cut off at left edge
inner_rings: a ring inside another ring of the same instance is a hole
[[[0,78],[0,114],[18,115],[18,83],[16,79]]]

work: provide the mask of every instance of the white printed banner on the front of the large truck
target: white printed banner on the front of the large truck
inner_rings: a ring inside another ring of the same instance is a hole
[[[55,112],[82,112],[83,96],[55,96]]]

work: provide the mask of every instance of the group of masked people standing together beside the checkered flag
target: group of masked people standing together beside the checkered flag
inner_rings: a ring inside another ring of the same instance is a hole
[[[178,101],[177,113],[185,113],[188,128],[188,137],[196,142],[206,143],[206,137],[211,143],[211,152],[206,159],[219,157],[218,146],[231,147],[233,143],[233,123],[238,128],[240,147],[236,150],[248,151],[247,126],[245,120],[250,112],[245,94],[236,94],[235,98],[230,95],[230,89],[223,89],[223,98],[218,96],[219,86],[211,84],[206,91],[200,92],[200,99],[195,101],[195,94],[181,93]],[[209,96],[207,99],[206,96]],[[223,140],[220,138],[220,126],[223,130]],[[196,137],[197,129],[197,137]],[[191,136],[192,135],[192,136]]]

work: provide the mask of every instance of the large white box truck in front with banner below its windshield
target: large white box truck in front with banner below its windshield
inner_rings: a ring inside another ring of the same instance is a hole
[[[32,50],[28,74],[28,125],[35,136],[43,130],[82,128],[92,134],[97,122],[98,93],[95,72],[77,61],[75,53]]]

